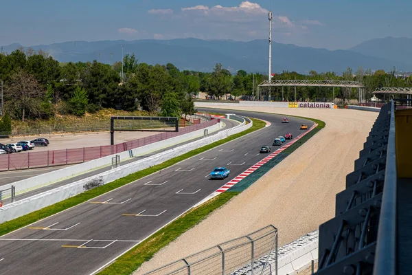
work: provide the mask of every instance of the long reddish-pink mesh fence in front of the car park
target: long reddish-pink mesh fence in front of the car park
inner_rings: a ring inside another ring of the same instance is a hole
[[[176,137],[179,135],[184,135],[185,133],[190,133],[192,131],[204,129],[216,123],[218,123],[218,120],[212,119],[203,123],[193,124],[192,126],[180,128],[179,132],[158,133],[156,135],[150,135],[148,137],[142,137],[138,140],[131,140],[129,142],[123,142],[115,145],[0,155],[0,171],[88,162],[92,159],[98,159],[100,157],[122,153],[133,148],[146,146],[154,142],[167,140],[171,137]]]

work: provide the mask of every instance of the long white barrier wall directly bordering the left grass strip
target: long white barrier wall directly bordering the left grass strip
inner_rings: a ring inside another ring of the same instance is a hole
[[[46,206],[51,206],[58,201],[62,201],[64,199],[68,199],[69,197],[78,195],[81,192],[89,190],[90,188],[88,186],[100,186],[108,184],[112,181],[115,181],[116,179],[130,175],[131,173],[135,173],[139,170],[144,170],[146,168],[149,168],[150,166],[161,164],[168,159],[172,159],[196,148],[200,148],[207,144],[222,140],[225,137],[229,137],[229,135],[234,135],[236,133],[240,133],[241,131],[245,131],[251,126],[253,126],[253,122],[250,121],[249,124],[245,125],[245,122],[243,121],[242,124],[236,127],[220,131],[219,133],[216,133],[216,135],[205,137],[202,140],[196,140],[194,142],[190,142],[189,144],[172,148],[157,155],[146,157],[145,159],[138,160],[137,162],[108,170],[99,175],[81,179],[80,181],[73,182],[66,186],[61,186],[38,195],[34,195],[27,199],[22,199],[21,201],[10,203],[0,208],[0,223],[10,221],[11,219],[16,219],[17,217],[21,217],[30,212],[45,208]]]

